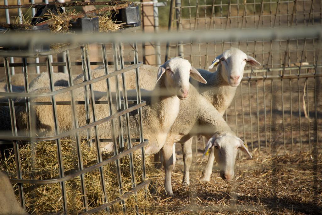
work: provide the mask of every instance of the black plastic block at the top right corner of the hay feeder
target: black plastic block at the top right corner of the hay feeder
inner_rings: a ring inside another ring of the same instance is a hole
[[[119,23],[126,23],[126,25],[132,25],[134,27],[140,26],[140,8],[138,5],[129,5],[126,8],[118,10],[118,14],[115,14],[112,20]]]

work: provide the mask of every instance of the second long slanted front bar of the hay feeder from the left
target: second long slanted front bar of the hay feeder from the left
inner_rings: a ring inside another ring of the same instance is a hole
[[[54,89],[54,82],[52,78],[52,62],[50,60],[50,56],[47,57],[47,69],[48,69],[48,75],[49,75],[49,81],[50,81],[50,91],[53,92]],[[52,114],[54,117],[54,128],[55,128],[55,135],[59,134],[59,125],[58,125],[58,117],[57,117],[57,107],[56,107],[56,99],[55,96],[51,96],[52,100]],[[64,166],[62,163],[62,147],[60,139],[55,140],[57,145],[57,160],[59,164],[59,177],[64,177]],[[66,184],[65,182],[61,182],[61,188],[62,188],[62,207],[64,212],[67,211],[67,194],[66,194]]]

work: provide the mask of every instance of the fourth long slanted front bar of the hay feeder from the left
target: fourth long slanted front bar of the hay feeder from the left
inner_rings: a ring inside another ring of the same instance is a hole
[[[84,61],[85,61],[85,70],[87,73],[87,77],[90,80],[91,79],[91,72],[90,72],[90,58],[88,54],[88,48],[83,47],[84,51]],[[93,122],[96,122],[96,114],[95,114],[95,97],[94,97],[94,90],[92,84],[88,85],[89,91],[90,91],[90,109],[92,111],[92,120]],[[100,147],[99,147],[99,133],[97,126],[94,126],[94,140],[95,140],[95,147],[96,147],[96,152],[97,152],[97,162],[100,163],[102,162],[102,154],[100,152]],[[101,188],[103,191],[103,199],[104,202],[107,201],[107,196],[106,196],[106,185],[105,185],[105,179],[104,179],[104,169],[103,166],[99,167],[99,176],[100,176],[100,182],[101,182]]]

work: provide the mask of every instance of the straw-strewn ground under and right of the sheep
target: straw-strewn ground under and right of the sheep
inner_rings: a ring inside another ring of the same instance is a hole
[[[177,152],[180,149],[177,147]],[[299,145],[297,145],[299,148]],[[305,148],[304,150],[308,150]],[[194,151],[193,151],[194,152]],[[173,197],[154,196],[150,213],[169,214],[321,214],[322,211],[322,153],[315,159],[309,152],[283,155],[283,146],[276,152],[251,152],[253,159],[242,155],[236,161],[235,177],[225,182],[218,166],[210,182],[200,177],[207,158],[198,151],[190,171],[190,186],[181,185],[182,156],[172,174]],[[193,153],[194,154],[194,153]],[[195,154],[194,154],[195,155]],[[194,156],[195,158],[195,156]],[[163,176],[162,176],[163,177]],[[160,192],[163,190],[159,188]]]

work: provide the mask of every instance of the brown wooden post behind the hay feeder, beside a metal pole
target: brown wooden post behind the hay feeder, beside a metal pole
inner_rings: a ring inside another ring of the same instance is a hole
[[[150,2],[151,0],[141,0],[141,2]],[[142,4],[142,26],[144,32],[154,32],[153,4]],[[143,46],[143,63],[156,65],[156,56],[154,44],[144,42]]]

